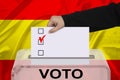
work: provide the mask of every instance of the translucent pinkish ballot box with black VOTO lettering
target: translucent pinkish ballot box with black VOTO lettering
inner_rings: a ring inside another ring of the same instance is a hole
[[[101,51],[90,50],[88,59],[89,64],[86,65],[56,65],[56,61],[52,65],[33,65],[30,50],[21,50],[17,53],[11,80],[110,80],[110,69]]]

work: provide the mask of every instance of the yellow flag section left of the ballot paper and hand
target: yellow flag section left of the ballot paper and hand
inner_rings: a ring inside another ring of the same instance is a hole
[[[15,59],[20,49],[30,49],[32,26],[46,26],[47,20],[0,20],[0,59]]]

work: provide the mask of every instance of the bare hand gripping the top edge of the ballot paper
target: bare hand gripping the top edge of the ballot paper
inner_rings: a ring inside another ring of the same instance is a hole
[[[48,22],[48,27],[52,28],[49,33],[54,33],[65,26],[62,16],[52,16]]]

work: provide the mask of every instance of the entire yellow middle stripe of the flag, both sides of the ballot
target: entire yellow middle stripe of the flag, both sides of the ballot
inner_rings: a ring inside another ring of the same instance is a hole
[[[30,49],[30,28],[47,26],[48,20],[0,20],[0,59],[14,60],[21,49]],[[120,27],[90,33],[90,48],[100,49],[107,60],[120,60]]]

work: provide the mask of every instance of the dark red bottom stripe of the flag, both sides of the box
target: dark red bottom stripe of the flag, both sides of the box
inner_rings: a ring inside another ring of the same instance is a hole
[[[120,60],[107,60],[111,70],[111,80],[120,80]],[[0,61],[0,80],[11,80],[14,60]]]

